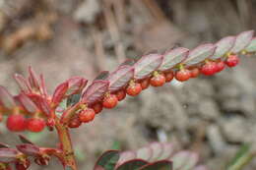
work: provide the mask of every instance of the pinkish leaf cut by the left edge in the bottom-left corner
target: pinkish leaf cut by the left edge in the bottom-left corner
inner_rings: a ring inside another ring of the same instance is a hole
[[[10,163],[16,161],[19,152],[13,148],[0,148],[0,162]]]

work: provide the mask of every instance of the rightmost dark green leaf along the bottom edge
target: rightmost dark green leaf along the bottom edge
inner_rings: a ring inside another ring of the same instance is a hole
[[[172,162],[168,160],[160,160],[144,165],[138,170],[172,170]]]

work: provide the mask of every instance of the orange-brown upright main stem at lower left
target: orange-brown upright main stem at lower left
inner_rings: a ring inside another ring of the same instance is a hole
[[[56,120],[55,128],[58,132],[59,141],[63,150],[63,166],[72,170],[78,170],[76,158],[69,135],[69,129]]]

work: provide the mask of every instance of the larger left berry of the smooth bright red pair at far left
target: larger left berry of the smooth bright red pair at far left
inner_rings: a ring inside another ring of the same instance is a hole
[[[12,114],[8,117],[6,126],[9,131],[22,132],[26,130],[27,121],[24,115]]]

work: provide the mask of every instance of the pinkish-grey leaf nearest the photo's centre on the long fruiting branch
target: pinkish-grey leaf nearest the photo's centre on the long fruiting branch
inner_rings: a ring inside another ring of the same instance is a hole
[[[121,66],[109,75],[109,91],[113,92],[127,85],[134,76],[134,69],[131,66]]]

